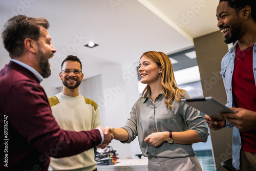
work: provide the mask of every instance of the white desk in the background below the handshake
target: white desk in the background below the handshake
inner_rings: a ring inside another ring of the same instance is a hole
[[[115,165],[97,165],[98,171],[148,171],[147,159],[118,159]]]

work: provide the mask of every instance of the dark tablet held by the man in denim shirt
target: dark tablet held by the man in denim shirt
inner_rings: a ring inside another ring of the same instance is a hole
[[[219,113],[236,113],[212,97],[181,99],[181,101],[213,118],[220,118]]]

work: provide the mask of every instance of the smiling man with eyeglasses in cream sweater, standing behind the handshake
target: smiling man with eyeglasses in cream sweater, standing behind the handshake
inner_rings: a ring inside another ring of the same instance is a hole
[[[49,98],[53,116],[61,129],[70,131],[92,130],[100,126],[98,105],[91,99],[79,95],[78,88],[83,79],[82,64],[77,56],[68,55],[61,63],[59,77],[63,91]],[[94,149],[79,155],[51,159],[53,170],[95,171]]]

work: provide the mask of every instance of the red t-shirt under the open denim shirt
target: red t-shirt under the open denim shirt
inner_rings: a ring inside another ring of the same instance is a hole
[[[232,77],[233,99],[238,108],[256,112],[256,86],[252,65],[253,46],[236,51]],[[242,150],[256,153],[256,127],[248,131],[240,131]]]

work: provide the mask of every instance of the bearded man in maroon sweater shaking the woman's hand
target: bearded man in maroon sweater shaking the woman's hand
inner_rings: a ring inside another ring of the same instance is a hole
[[[61,130],[40,86],[51,74],[56,52],[45,18],[17,15],[4,26],[2,39],[11,61],[0,71],[0,170],[48,170],[50,157],[68,157],[114,138],[108,128]]]

